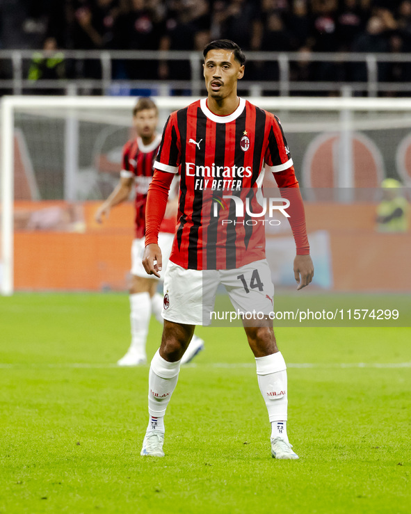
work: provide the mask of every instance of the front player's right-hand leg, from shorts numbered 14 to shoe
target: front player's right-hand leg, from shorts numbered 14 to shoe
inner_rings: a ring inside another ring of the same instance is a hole
[[[254,314],[244,319],[248,344],[254,353],[257,379],[271,422],[271,451],[275,458],[296,459],[287,437],[287,366],[277,348],[273,321],[274,287],[266,260],[225,271],[225,285],[235,309]],[[261,318],[261,319],[259,319]]]

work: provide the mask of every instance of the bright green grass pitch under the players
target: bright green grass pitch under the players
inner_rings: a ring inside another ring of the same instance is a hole
[[[271,458],[241,328],[198,328],[206,349],[180,373],[166,457],[150,459],[148,366],[111,366],[129,344],[128,305],[0,298],[0,513],[410,512],[410,328],[276,330],[298,461]],[[160,334],[152,321],[149,357]]]

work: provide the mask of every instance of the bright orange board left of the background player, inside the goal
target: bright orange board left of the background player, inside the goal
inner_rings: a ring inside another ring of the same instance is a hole
[[[123,291],[128,287],[132,202],[113,209],[99,224],[94,214],[101,202],[84,202],[81,232],[53,230],[15,232],[15,289],[30,291]],[[63,207],[65,202],[16,202],[19,211]],[[74,230],[76,229],[74,223]]]

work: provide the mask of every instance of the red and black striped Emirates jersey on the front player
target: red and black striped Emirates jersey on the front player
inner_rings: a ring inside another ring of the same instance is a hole
[[[265,169],[287,170],[289,181],[280,186],[298,184],[279,120],[245,99],[228,116],[209,111],[206,99],[172,113],[154,168],[181,174],[170,260],[191,269],[239,268],[265,257],[263,223],[249,223],[248,214],[236,218],[235,202],[223,195],[243,204],[249,197],[259,213],[255,193]]]

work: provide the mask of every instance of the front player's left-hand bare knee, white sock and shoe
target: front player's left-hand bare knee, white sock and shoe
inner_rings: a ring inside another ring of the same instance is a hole
[[[142,456],[164,456],[164,415],[177,385],[182,356],[193,337],[194,327],[194,325],[182,325],[164,320],[161,346],[150,365],[148,378],[150,419],[141,450]]]

